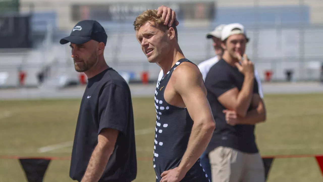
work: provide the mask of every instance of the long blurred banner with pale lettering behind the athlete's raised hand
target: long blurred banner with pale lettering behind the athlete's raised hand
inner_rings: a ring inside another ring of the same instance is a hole
[[[172,3],[105,3],[75,4],[71,7],[73,21],[95,19],[98,21],[133,22],[134,19],[147,9],[156,9],[161,5],[168,6],[176,12],[176,17],[190,20],[213,20],[215,18],[214,1],[172,2]]]

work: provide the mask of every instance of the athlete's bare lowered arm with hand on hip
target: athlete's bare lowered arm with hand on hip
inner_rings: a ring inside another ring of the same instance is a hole
[[[192,63],[182,63],[172,73],[168,84],[181,96],[185,107],[194,121],[186,152],[178,167],[161,174],[161,182],[180,181],[198,160],[211,140],[215,122],[206,98],[202,74]]]

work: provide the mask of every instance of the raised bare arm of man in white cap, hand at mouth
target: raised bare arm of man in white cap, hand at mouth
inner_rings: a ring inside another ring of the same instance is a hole
[[[245,117],[247,110],[251,104],[251,99],[254,89],[254,66],[253,63],[248,61],[246,55],[245,59],[239,57],[241,65],[236,63],[237,68],[245,75],[245,79],[239,92],[238,88],[232,88],[218,97],[219,102],[227,109],[234,110],[239,116]]]

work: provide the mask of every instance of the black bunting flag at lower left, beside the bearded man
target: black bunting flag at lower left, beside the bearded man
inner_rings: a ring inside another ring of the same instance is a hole
[[[49,159],[19,159],[28,182],[43,182]]]

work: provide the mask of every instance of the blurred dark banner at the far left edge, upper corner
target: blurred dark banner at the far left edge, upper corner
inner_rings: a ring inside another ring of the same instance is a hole
[[[0,48],[31,48],[30,16],[0,15]]]

